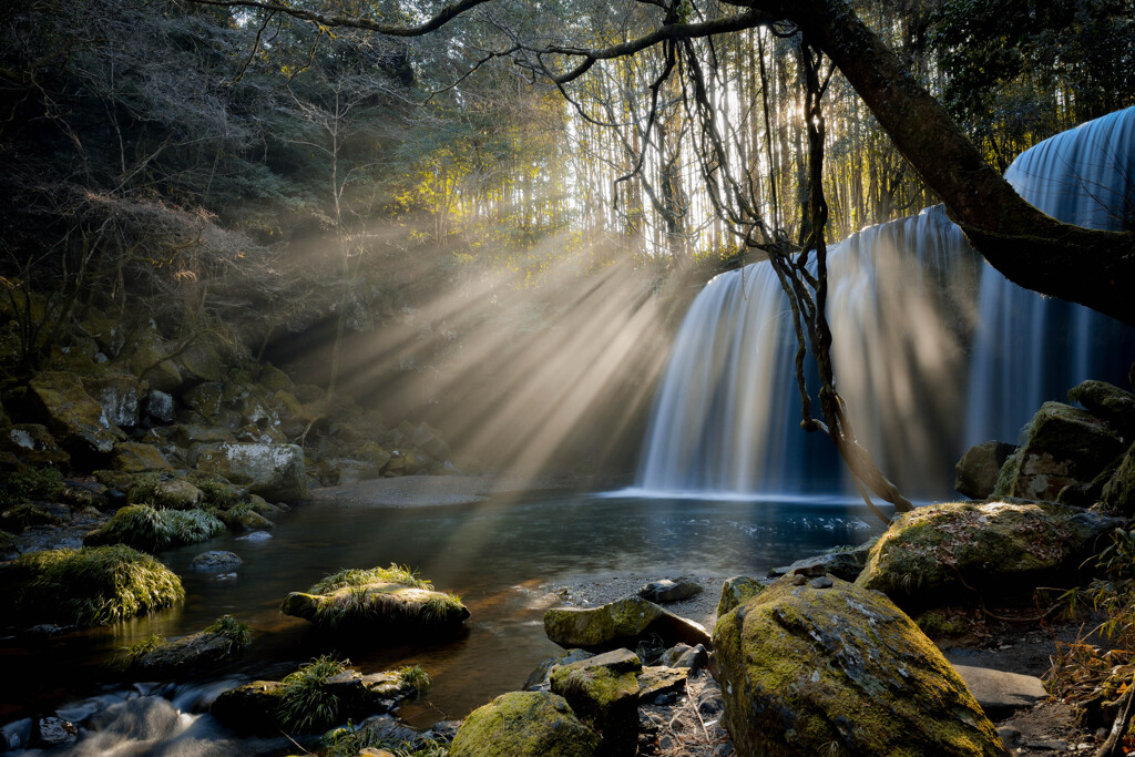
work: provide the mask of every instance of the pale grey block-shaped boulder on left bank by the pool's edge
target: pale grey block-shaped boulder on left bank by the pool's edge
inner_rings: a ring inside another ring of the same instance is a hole
[[[297,445],[222,441],[197,445],[191,456],[197,470],[245,485],[264,499],[296,503],[308,498],[303,449]]]

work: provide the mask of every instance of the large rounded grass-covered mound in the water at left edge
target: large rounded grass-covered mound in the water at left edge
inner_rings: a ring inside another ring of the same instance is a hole
[[[16,608],[36,622],[103,625],[185,598],[173,571],[124,545],[36,552],[14,567]]]

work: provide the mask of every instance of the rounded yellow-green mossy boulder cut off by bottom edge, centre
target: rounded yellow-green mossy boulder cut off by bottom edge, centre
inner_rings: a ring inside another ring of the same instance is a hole
[[[470,713],[449,757],[591,757],[598,742],[563,697],[513,691]]]

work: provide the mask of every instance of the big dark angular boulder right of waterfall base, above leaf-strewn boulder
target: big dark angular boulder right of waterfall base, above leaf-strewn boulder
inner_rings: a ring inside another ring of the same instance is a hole
[[[1091,481],[1123,452],[1119,435],[1092,413],[1045,402],[1024,446],[1006,461],[994,495],[1056,502],[1066,486]]]

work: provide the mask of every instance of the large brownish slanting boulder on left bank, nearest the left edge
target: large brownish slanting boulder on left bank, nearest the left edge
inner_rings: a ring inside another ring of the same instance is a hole
[[[44,371],[27,385],[32,412],[72,456],[108,456],[126,435],[106,417],[102,406],[74,373]]]

